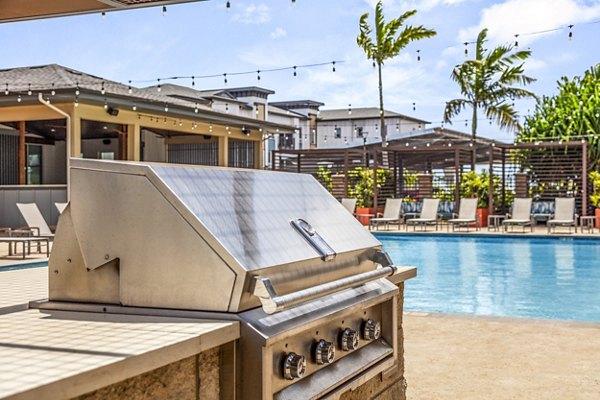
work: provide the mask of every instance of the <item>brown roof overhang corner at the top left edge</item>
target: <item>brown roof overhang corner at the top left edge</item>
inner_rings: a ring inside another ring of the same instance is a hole
[[[204,0],[2,0],[0,23],[197,1]]]

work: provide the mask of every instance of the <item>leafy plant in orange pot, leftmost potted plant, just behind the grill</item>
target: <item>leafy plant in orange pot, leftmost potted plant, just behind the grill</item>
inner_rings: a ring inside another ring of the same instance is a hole
[[[377,170],[377,188],[381,189],[390,183],[390,172],[386,169]],[[356,216],[363,225],[369,225],[369,220],[375,213],[373,169],[356,167],[348,172],[348,197],[356,199]]]

